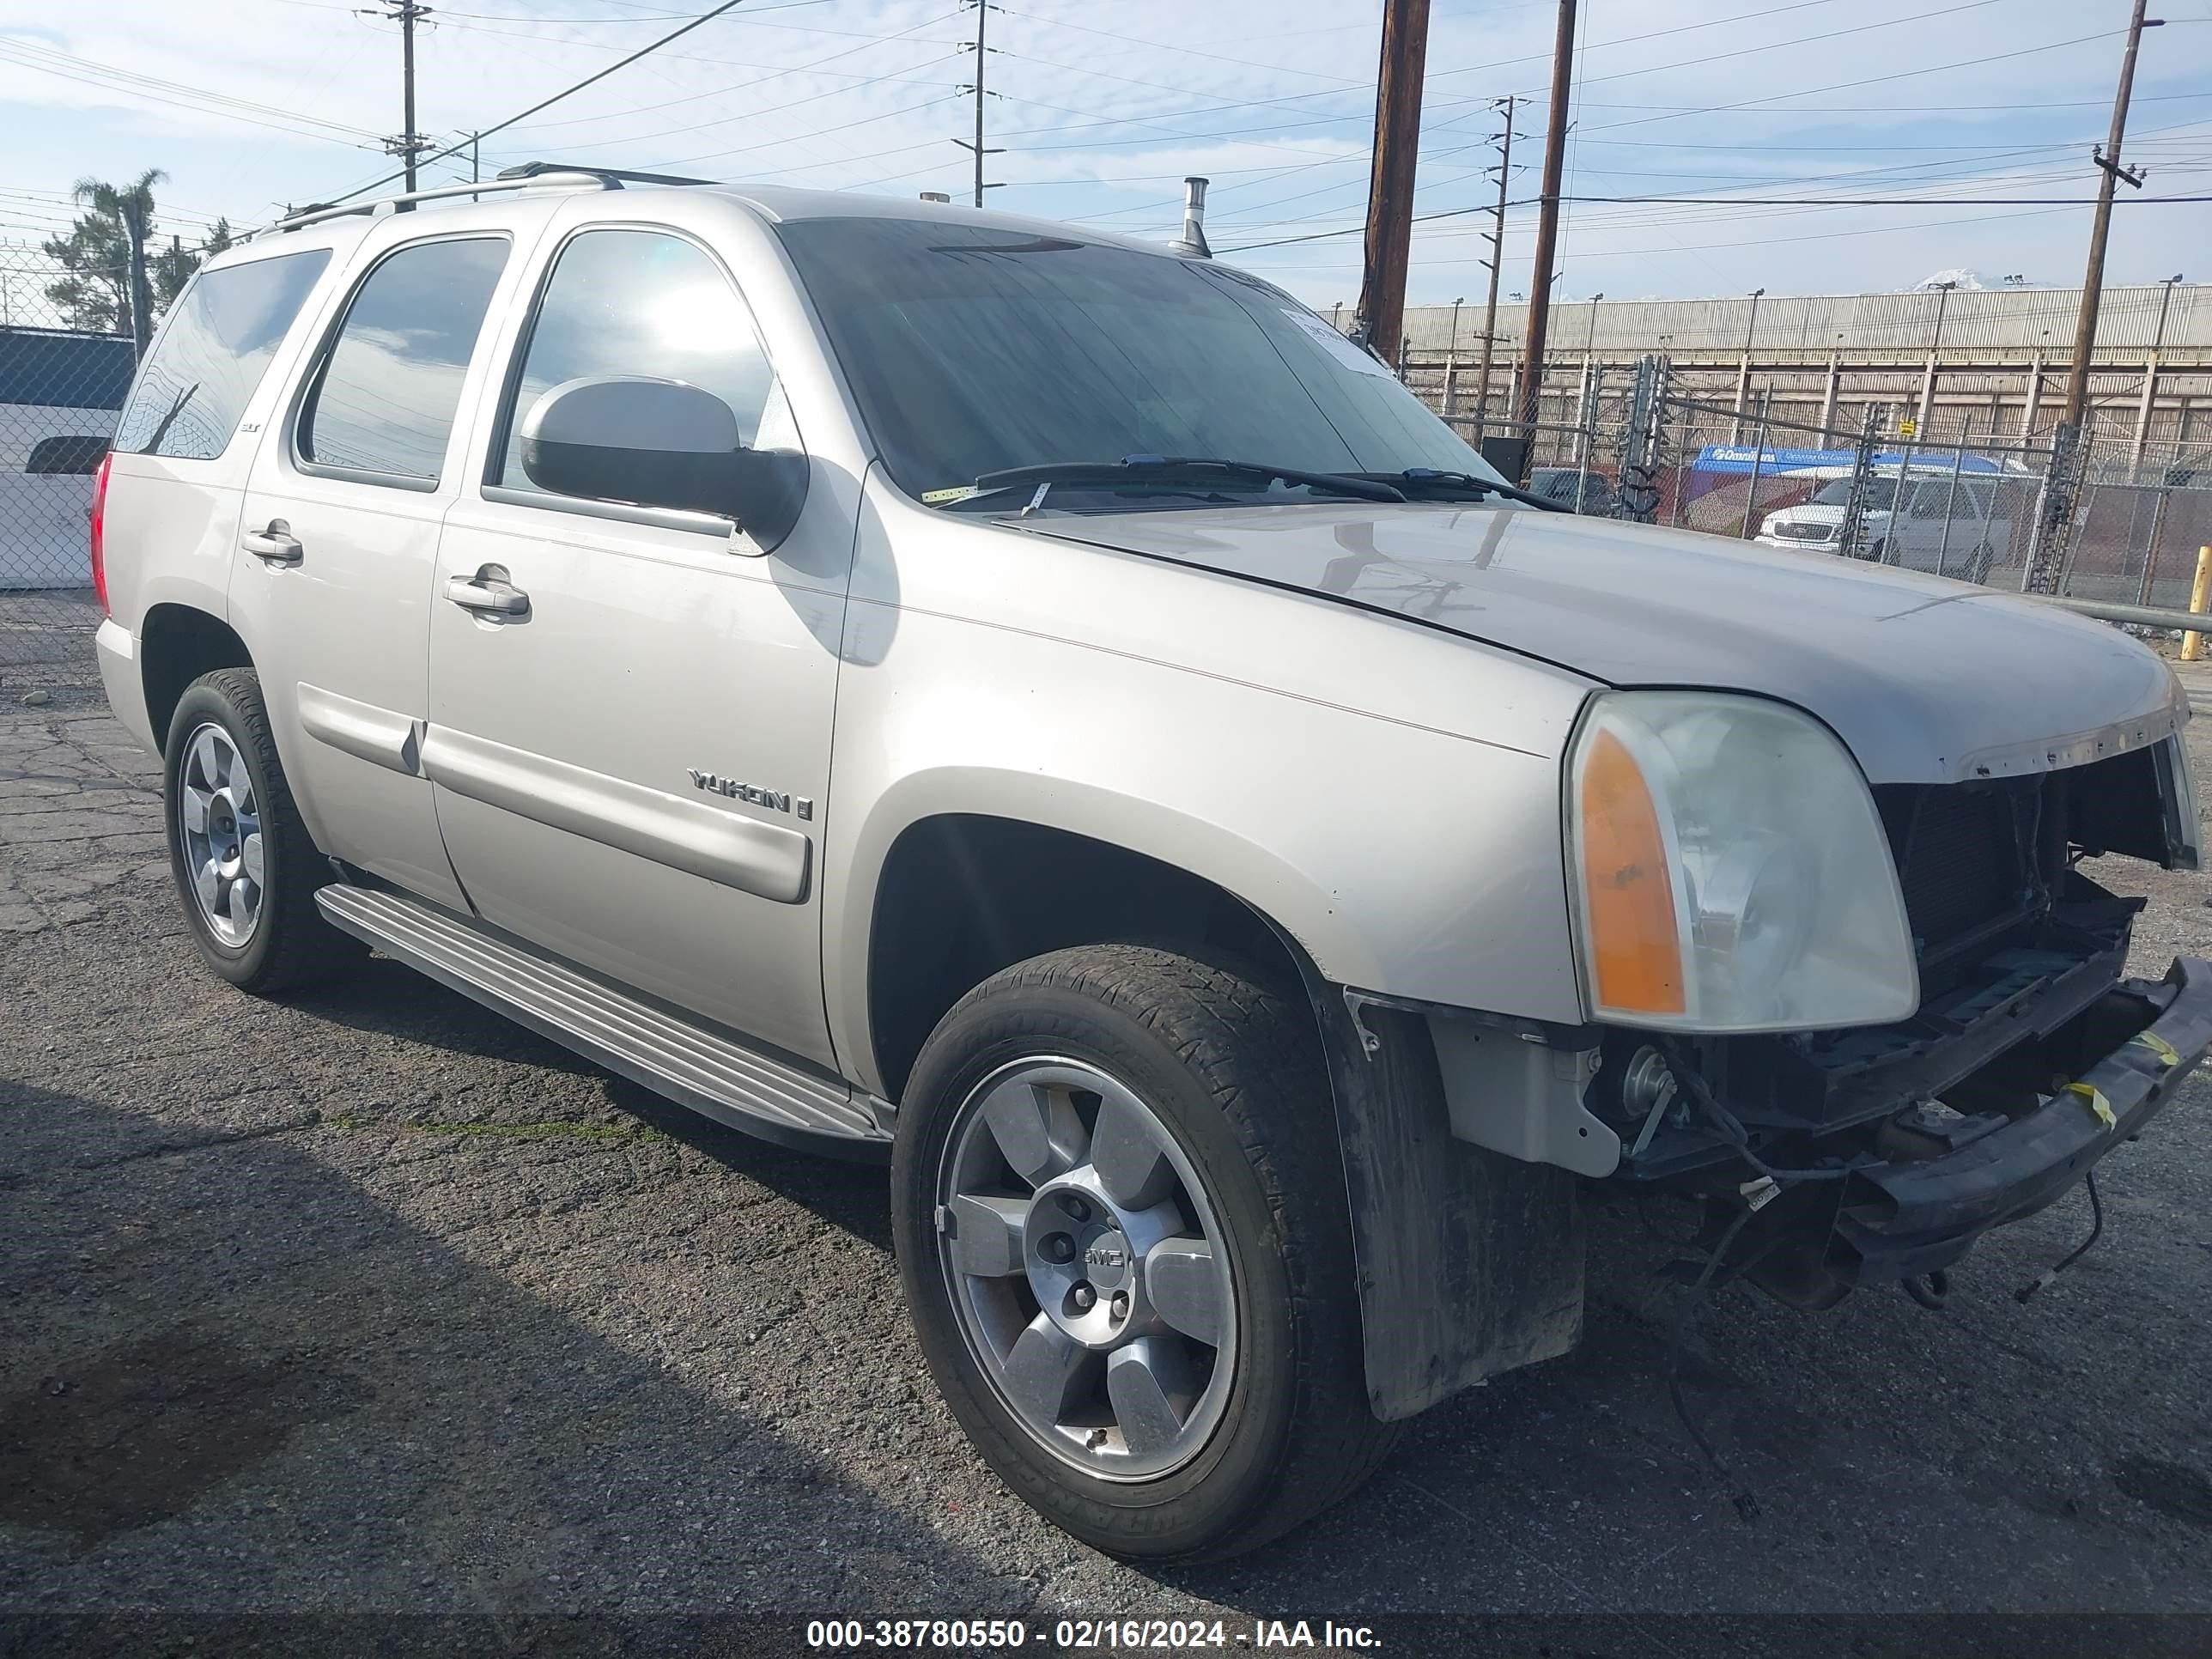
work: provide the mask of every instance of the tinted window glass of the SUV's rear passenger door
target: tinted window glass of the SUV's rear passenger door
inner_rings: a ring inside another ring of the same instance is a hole
[[[299,416],[303,465],[367,482],[438,482],[504,237],[418,241],[361,279]]]

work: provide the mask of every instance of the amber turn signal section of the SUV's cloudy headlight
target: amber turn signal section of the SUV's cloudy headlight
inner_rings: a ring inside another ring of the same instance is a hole
[[[1595,732],[1582,763],[1582,894],[1597,1006],[1683,1013],[1674,883],[1650,785],[1628,745]]]

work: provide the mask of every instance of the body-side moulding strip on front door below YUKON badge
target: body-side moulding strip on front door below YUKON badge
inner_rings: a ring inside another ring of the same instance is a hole
[[[779,905],[807,896],[814,841],[799,830],[445,726],[422,737],[422,774],[471,801]]]

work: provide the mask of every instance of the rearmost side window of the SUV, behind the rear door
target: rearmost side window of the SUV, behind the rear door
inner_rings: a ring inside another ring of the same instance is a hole
[[[131,387],[115,449],[175,460],[221,456],[325,265],[330,248],[307,248],[195,276]]]

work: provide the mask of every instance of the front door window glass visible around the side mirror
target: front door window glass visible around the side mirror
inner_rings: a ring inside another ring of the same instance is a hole
[[[721,268],[661,230],[586,230],[562,248],[538,301],[504,438],[484,482],[535,489],[522,471],[522,420],[551,387],[599,374],[681,380],[730,405],[745,447],[790,447],[776,374],[745,301]]]

